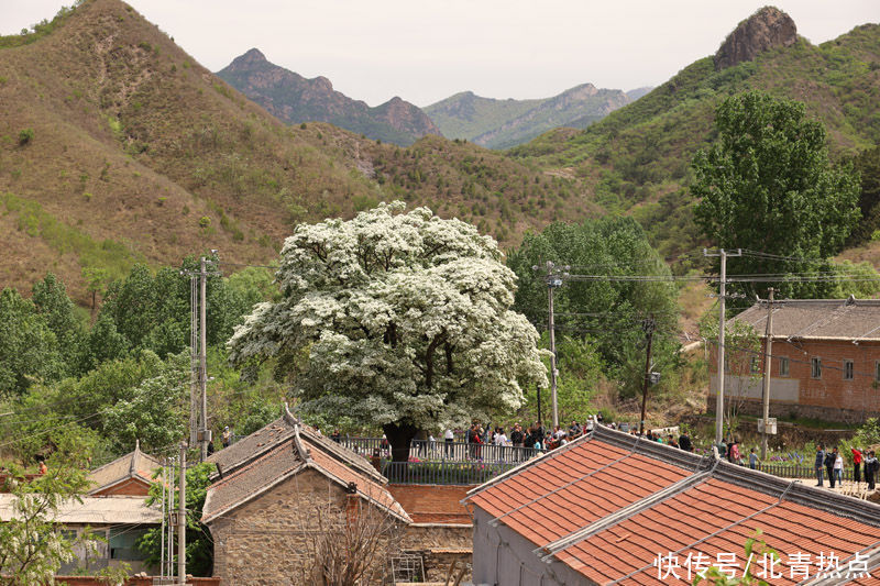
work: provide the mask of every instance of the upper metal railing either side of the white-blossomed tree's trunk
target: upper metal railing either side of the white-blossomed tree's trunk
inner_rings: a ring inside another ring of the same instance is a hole
[[[381,438],[340,438],[340,443],[359,454],[370,457],[378,451],[380,456],[391,455],[391,445]],[[427,461],[482,461],[482,462],[524,462],[538,453],[534,447],[514,445],[490,445],[463,442],[435,442],[413,440],[409,457]]]

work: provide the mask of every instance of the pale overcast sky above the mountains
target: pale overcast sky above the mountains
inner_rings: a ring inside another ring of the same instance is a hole
[[[0,0],[0,33],[51,18],[67,2]],[[257,47],[306,77],[376,106],[427,106],[472,90],[542,98],[583,82],[656,86],[715,53],[752,0],[130,0],[211,70]],[[879,0],[791,0],[813,43],[880,21]]]

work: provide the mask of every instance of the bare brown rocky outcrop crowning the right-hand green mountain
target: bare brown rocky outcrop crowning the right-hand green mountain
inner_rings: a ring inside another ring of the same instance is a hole
[[[715,54],[715,69],[749,62],[761,52],[788,47],[798,40],[794,21],[774,7],[765,7],[739,23]]]

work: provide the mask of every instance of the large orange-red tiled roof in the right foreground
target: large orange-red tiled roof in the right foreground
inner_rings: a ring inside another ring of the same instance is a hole
[[[743,564],[756,529],[780,553],[813,559],[833,551],[845,560],[880,544],[873,504],[601,425],[472,490],[465,501],[492,515],[491,524],[534,543],[536,556],[598,584],[656,584],[658,554],[670,552],[682,562],[703,553],[713,563],[718,553],[734,553]]]

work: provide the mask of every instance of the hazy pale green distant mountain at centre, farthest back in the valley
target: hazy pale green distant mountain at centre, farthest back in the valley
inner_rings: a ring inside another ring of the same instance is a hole
[[[443,135],[488,148],[507,148],[559,126],[584,129],[629,103],[626,93],[583,84],[538,100],[495,100],[471,91],[425,109]]]

